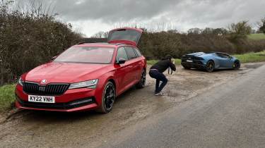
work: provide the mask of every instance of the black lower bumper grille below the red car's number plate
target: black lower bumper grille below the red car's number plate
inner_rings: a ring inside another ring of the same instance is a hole
[[[31,102],[31,101],[24,101],[16,96],[16,99],[23,107],[32,107],[36,109],[74,109],[81,106],[86,106],[89,104],[95,103],[95,97],[88,97],[84,99],[77,99],[75,101],[70,101],[66,103],[55,103],[55,104],[48,104],[48,103],[38,103],[38,102]]]

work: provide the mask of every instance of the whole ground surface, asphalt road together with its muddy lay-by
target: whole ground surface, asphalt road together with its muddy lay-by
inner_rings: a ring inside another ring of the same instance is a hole
[[[264,147],[265,63],[240,70],[167,75],[164,97],[155,80],[118,97],[107,114],[21,110],[0,113],[1,147]]]

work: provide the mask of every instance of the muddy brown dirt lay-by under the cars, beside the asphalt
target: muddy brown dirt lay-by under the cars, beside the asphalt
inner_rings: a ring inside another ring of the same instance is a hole
[[[153,95],[155,81],[148,77],[142,90],[132,88],[118,97],[111,113],[54,113],[20,111],[11,118],[0,118],[0,147],[97,147],[112,136],[138,121],[154,116],[182,101],[192,99],[233,78],[248,73],[264,63],[247,63],[240,70],[219,70],[206,73],[184,70],[168,75],[164,97]],[[119,138],[119,137],[117,137]]]

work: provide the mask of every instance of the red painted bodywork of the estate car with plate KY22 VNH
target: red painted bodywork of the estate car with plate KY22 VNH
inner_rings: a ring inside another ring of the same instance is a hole
[[[116,42],[116,41],[115,41]],[[24,82],[35,82],[42,86],[41,81],[47,80],[45,83],[67,83],[83,82],[87,80],[98,79],[95,89],[83,87],[77,89],[69,89],[64,94],[53,95],[56,104],[66,104],[83,98],[93,98],[95,101],[84,106],[77,106],[71,109],[54,109],[49,107],[24,106],[23,103],[28,102],[28,95],[23,91],[23,86],[16,85],[16,107],[18,109],[33,109],[45,111],[86,111],[90,109],[98,109],[102,104],[102,94],[104,87],[108,81],[114,82],[116,87],[116,95],[128,90],[141,79],[141,73],[146,69],[146,58],[139,56],[126,61],[123,64],[117,64],[116,56],[119,47],[136,47],[131,44],[79,44],[73,47],[111,47],[114,48],[112,61],[109,64],[90,64],[90,63],[61,63],[49,62],[45,63],[28,73],[21,75]],[[45,104],[45,103],[44,103]]]

